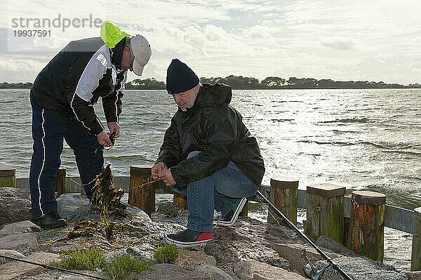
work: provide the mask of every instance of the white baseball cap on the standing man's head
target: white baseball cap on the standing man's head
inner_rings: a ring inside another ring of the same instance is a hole
[[[152,55],[151,45],[149,45],[149,41],[147,41],[144,36],[136,35],[131,37],[130,46],[133,51],[133,55],[135,55],[135,60],[133,61],[133,72],[136,75],[141,76],[143,68],[145,68],[145,65]]]

